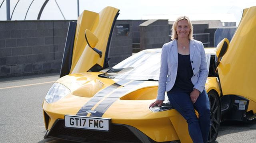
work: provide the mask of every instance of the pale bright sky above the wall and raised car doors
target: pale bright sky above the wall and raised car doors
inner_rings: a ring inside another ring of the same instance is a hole
[[[45,0],[34,0],[28,14],[26,12],[32,0],[10,0],[10,15],[18,2],[12,20],[36,20]],[[64,17],[62,16],[58,6]],[[0,0],[0,4],[3,0]],[[222,22],[240,22],[244,8],[256,6],[256,0],[79,0],[79,12],[90,10],[100,12],[106,6],[120,10],[118,20],[176,20],[179,16],[188,16],[190,20],[221,20]],[[77,0],[49,0],[41,20],[77,20]],[[6,20],[6,0],[0,8],[0,20]]]

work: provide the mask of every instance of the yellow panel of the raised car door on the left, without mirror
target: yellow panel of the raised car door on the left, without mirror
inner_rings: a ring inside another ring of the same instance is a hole
[[[94,65],[104,65],[106,47],[114,20],[119,10],[106,7],[100,13],[84,10],[78,17],[76,34],[74,39],[74,50],[70,74],[87,72]],[[89,29],[98,38],[95,48],[102,51],[102,57],[88,46],[85,39],[85,30]]]

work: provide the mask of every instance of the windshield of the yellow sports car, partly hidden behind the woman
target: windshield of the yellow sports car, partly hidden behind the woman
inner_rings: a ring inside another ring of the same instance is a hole
[[[158,81],[160,72],[161,52],[141,51],[118,63],[103,76],[106,78],[128,79],[128,80],[151,80]],[[210,54],[206,54],[209,69]]]

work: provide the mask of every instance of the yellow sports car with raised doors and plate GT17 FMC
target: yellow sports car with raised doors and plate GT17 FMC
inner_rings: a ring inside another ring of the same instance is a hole
[[[44,138],[80,142],[192,143],[186,120],[166,101],[156,99],[161,49],[148,49],[106,72],[119,10],[84,11],[70,22],[60,76],[43,102]],[[244,10],[232,41],[206,49],[211,104],[208,142],[220,121],[250,121],[256,113],[256,7]]]

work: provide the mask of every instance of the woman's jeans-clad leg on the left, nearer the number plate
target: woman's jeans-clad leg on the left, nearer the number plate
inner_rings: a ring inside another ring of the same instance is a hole
[[[186,119],[188,132],[194,143],[203,143],[199,121],[196,117],[194,106],[188,93],[167,92],[167,96],[172,106]]]

